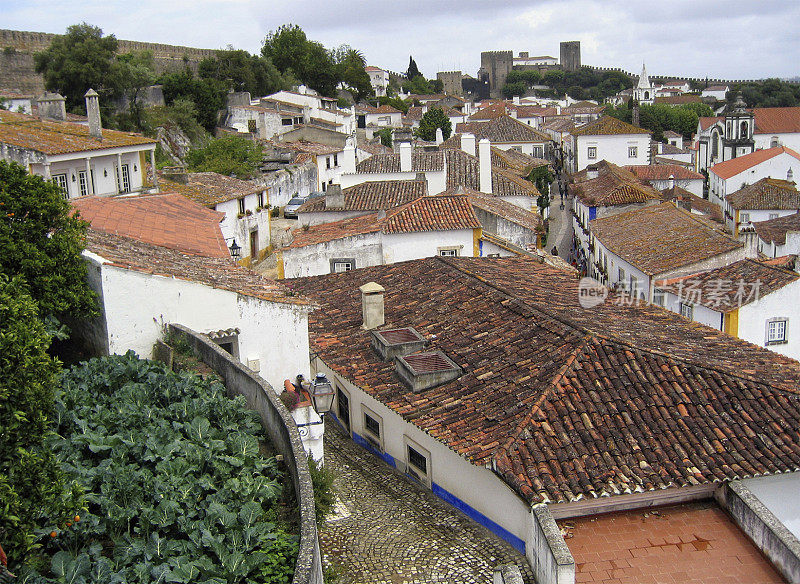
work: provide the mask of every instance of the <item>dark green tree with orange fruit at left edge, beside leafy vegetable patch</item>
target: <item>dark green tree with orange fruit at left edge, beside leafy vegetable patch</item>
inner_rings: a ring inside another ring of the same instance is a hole
[[[0,542],[9,568],[42,565],[42,539],[80,509],[46,444],[59,363],[22,277],[0,274]]]

